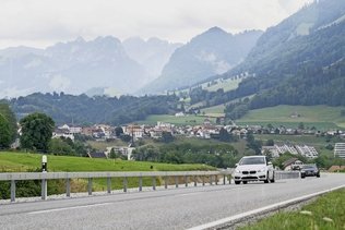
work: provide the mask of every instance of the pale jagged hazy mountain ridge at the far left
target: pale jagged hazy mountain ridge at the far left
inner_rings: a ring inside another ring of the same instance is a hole
[[[92,88],[133,93],[154,77],[147,70],[155,65],[155,60],[160,61],[157,65],[164,64],[177,47],[159,39],[147,41],[151,45],[155,43],[165,47],[152,50],[154,60],[148,57],[148,63],[138,63],[130,58],[122,43],[111,36],[90,41],[79,37],[46,49],[14,47],[0,50],[0,97],[34,92],[82,94]],[[159,71],[159,68],[154,71]]]

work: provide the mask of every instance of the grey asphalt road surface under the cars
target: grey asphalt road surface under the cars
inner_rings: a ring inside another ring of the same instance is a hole
[[[0,205],[0,229],[188,229],[345,185],[345,173]]]

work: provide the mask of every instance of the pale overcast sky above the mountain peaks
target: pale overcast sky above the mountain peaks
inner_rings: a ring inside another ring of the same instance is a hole
[[[265,29],[312,0],[0,0],[0,48],[82,36],[186,43],[213,26]]]

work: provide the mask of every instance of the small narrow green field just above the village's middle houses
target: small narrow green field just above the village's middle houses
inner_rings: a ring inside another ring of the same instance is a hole
[[[197,125],[202,124],[206,117],[202,116],[148,116],[144,121],[136,121],[138,124],[157,124],[158,121],[167,122],[176,125]],[[210,118],[212,123],[215,123],[215,118]]]

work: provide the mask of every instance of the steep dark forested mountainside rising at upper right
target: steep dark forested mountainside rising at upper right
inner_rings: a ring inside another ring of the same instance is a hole
[[[236,89],[250,108],[345,105],[345,2],[319,0],[269,28],[246,60],[224,74],[250,73]]]

